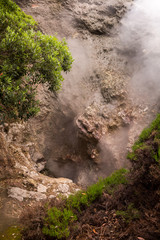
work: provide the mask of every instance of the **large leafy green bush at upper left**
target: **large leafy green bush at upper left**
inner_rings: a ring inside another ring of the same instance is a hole
[[[0,121],[28,119],[38,111],[39,83],[60,89],[73,59],[65,40],[42,34],[11,0],[0,1]]]

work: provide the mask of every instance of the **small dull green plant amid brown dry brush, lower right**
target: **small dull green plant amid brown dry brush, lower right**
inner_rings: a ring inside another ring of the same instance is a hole
[[[131,203],[128,205],[126,211],[117,211],[116,212],[117,216],[121,216],[124,221],[127,223],[134,220],[138,219],[140,217],[140,213],[138,209],[134,208],[134,204]]]

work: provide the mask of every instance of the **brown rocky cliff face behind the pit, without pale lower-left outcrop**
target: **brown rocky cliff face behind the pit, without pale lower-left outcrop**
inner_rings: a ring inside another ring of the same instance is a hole
[[[45,161],[52,176],[85,185],[125,162],[118,162],[122,151],[113,151],[117,144],[109,136],[119,128],[128,132],[133,118],[126,60],[116,50],[117,27],[129,2],[17,1],[43,32],[65,36],[75,58],[62,91],[54,95],[39,87],[41,112],[28,123],[34,139],[31,157]]]

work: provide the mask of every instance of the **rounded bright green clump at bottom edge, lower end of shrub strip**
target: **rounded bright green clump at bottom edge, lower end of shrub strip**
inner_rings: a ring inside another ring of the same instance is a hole
[[[45,218],[45,225],[42,232],[50,237],[61,239],[69,236],[69,223],[75,221],[76,215],[69,209],[64,208],[60,210],[53,207],[48,210],[47,217]]]

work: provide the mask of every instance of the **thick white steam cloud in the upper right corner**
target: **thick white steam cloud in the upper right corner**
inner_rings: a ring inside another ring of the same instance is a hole
[[[135,0],[122,20],[120,35],[132,72],[131,95],[151,104],[160,94],[159,13],[159,0]]]

